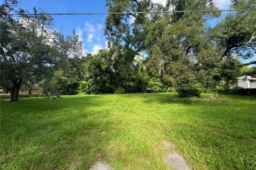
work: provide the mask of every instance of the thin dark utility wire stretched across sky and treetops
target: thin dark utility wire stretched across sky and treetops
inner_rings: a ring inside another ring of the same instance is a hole
[[[199,11],[152,11],[152,12],[92,12],[92,13],[46,13],[47,15],[107,15],[107,14],[153,14],[153,13],[197,13],[197,12],[233,12],[233,11],[256,11],[256,9],[245,10],[199,10]],[[12,16],[22,14],[9,14]],[[28,13],[26,15],[39,15]]]

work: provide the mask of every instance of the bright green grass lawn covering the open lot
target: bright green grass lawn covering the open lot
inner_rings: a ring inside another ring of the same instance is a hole
[[[255,169],[256,97],[205,97],[1,100],[1,169],[89,169],[95,160],[114,169],[169,169],[170,151],[195,169]]]

